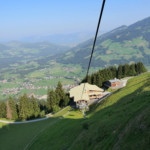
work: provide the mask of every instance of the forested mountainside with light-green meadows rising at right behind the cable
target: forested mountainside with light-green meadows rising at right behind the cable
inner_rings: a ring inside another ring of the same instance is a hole
[[[97,39],[92,66],[142,61],[150,66],[150,17],[130,26],[122,26]],[[81,64],[89,61],[93,39],[65,54],[57,56],[60,63]]]

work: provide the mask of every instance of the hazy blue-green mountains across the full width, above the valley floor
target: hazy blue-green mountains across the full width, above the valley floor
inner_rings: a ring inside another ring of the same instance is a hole
[[[68,37],[68,40],[73,39]],[[29,61],[36,61],[44,67],[51,61],[56,61],[60,64],[79,64],[82,68],[87,68],[92,44],[93,38],[73,48],[50,42],[1,43],[0,67]],[[99,36],[92,66],[106,67],[137,61],[142,61],[146,66],[150,66],[150,17]]]

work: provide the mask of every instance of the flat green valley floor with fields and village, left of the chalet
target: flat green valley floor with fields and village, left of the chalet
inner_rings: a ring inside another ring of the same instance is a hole
[[[70,86],[80,82],[85,75],[80,65],[53,63],[49,67],[44,65],[42,68],[38,67],[28,64],[1,72],[0,100],[7,100],[9,96],[18,98],[24,93],[34,93],[40,98],[47,94],[49,88],[55,88],[58,81],[67,90]]]

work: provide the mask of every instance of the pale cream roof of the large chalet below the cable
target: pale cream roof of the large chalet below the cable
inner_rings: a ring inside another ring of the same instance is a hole
[[[84,88],[85,86],[85,88]],[[83,92],[83,88],[84,88],[84,92]],[[92,93],[87,93],[88,91],[93,91]],[[96,85],[91,85],[89,83],[82,83],[74,88],[72,88],[69,93],[70,93],[70,97],[74,97],[74,101],[78,101],[78,100],[89,100],[89,94],[90,95],[94,95],[94,91],[98,91],[98,93],[102,93],[104,90],[99,88]],[[82,94],[83,92],[83,94]]]

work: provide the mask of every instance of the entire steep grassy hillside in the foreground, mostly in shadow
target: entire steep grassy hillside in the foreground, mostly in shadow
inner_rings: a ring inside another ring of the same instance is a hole
[[[130,79],[125,88],[92,106],[86,120],[81,112],[66,108],[43,122],[1,124],[0,148],[148,150],[149,116],[150,73],[146,73]]]

